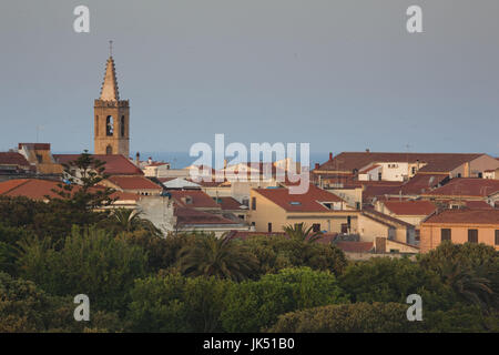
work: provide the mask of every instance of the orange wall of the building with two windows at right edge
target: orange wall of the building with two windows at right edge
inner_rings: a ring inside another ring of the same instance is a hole
[[[426,253],[440,245],[441,229],[451,230],[451,242],[462,244],[468,242],[468,230],[478,230],[478,243],[491,245],[499,251],[499,245],[495,245],[496,230],[499,230],[499,224],[483,225],[483,224],[445,224],[445,223],[422,223],[420,232],[420,251]]]

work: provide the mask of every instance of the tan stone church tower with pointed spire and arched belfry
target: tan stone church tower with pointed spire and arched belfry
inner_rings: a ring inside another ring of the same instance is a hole
[[[122,154],[129,158],[129,100],[120,100],[112,53],[105,65],[101,97],[94,101],[94,154]]]

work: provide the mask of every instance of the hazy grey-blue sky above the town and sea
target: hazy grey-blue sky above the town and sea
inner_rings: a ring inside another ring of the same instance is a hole
[[[73,9],[90,8],[90,33]],[[419,4],[424,33],[406,31]],[[114,41],[131,152],[195,142],[499,155],[498,0],[0,2],[0,150],[93,150]]]

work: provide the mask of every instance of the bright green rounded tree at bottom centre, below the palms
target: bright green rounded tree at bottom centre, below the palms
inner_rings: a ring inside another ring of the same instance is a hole
[[[259,332],[281,314],[343,302],[347,297],[334,274],[309,267],[285,268],[259,281],[233,284],[221,317],[226,332]]]

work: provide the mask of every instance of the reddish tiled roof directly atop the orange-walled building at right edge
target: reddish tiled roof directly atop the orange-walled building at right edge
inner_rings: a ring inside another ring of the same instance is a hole
[[[496,224],[499,226],[499,210],[446,210],[434,214],[425,223],[476,223]]]

